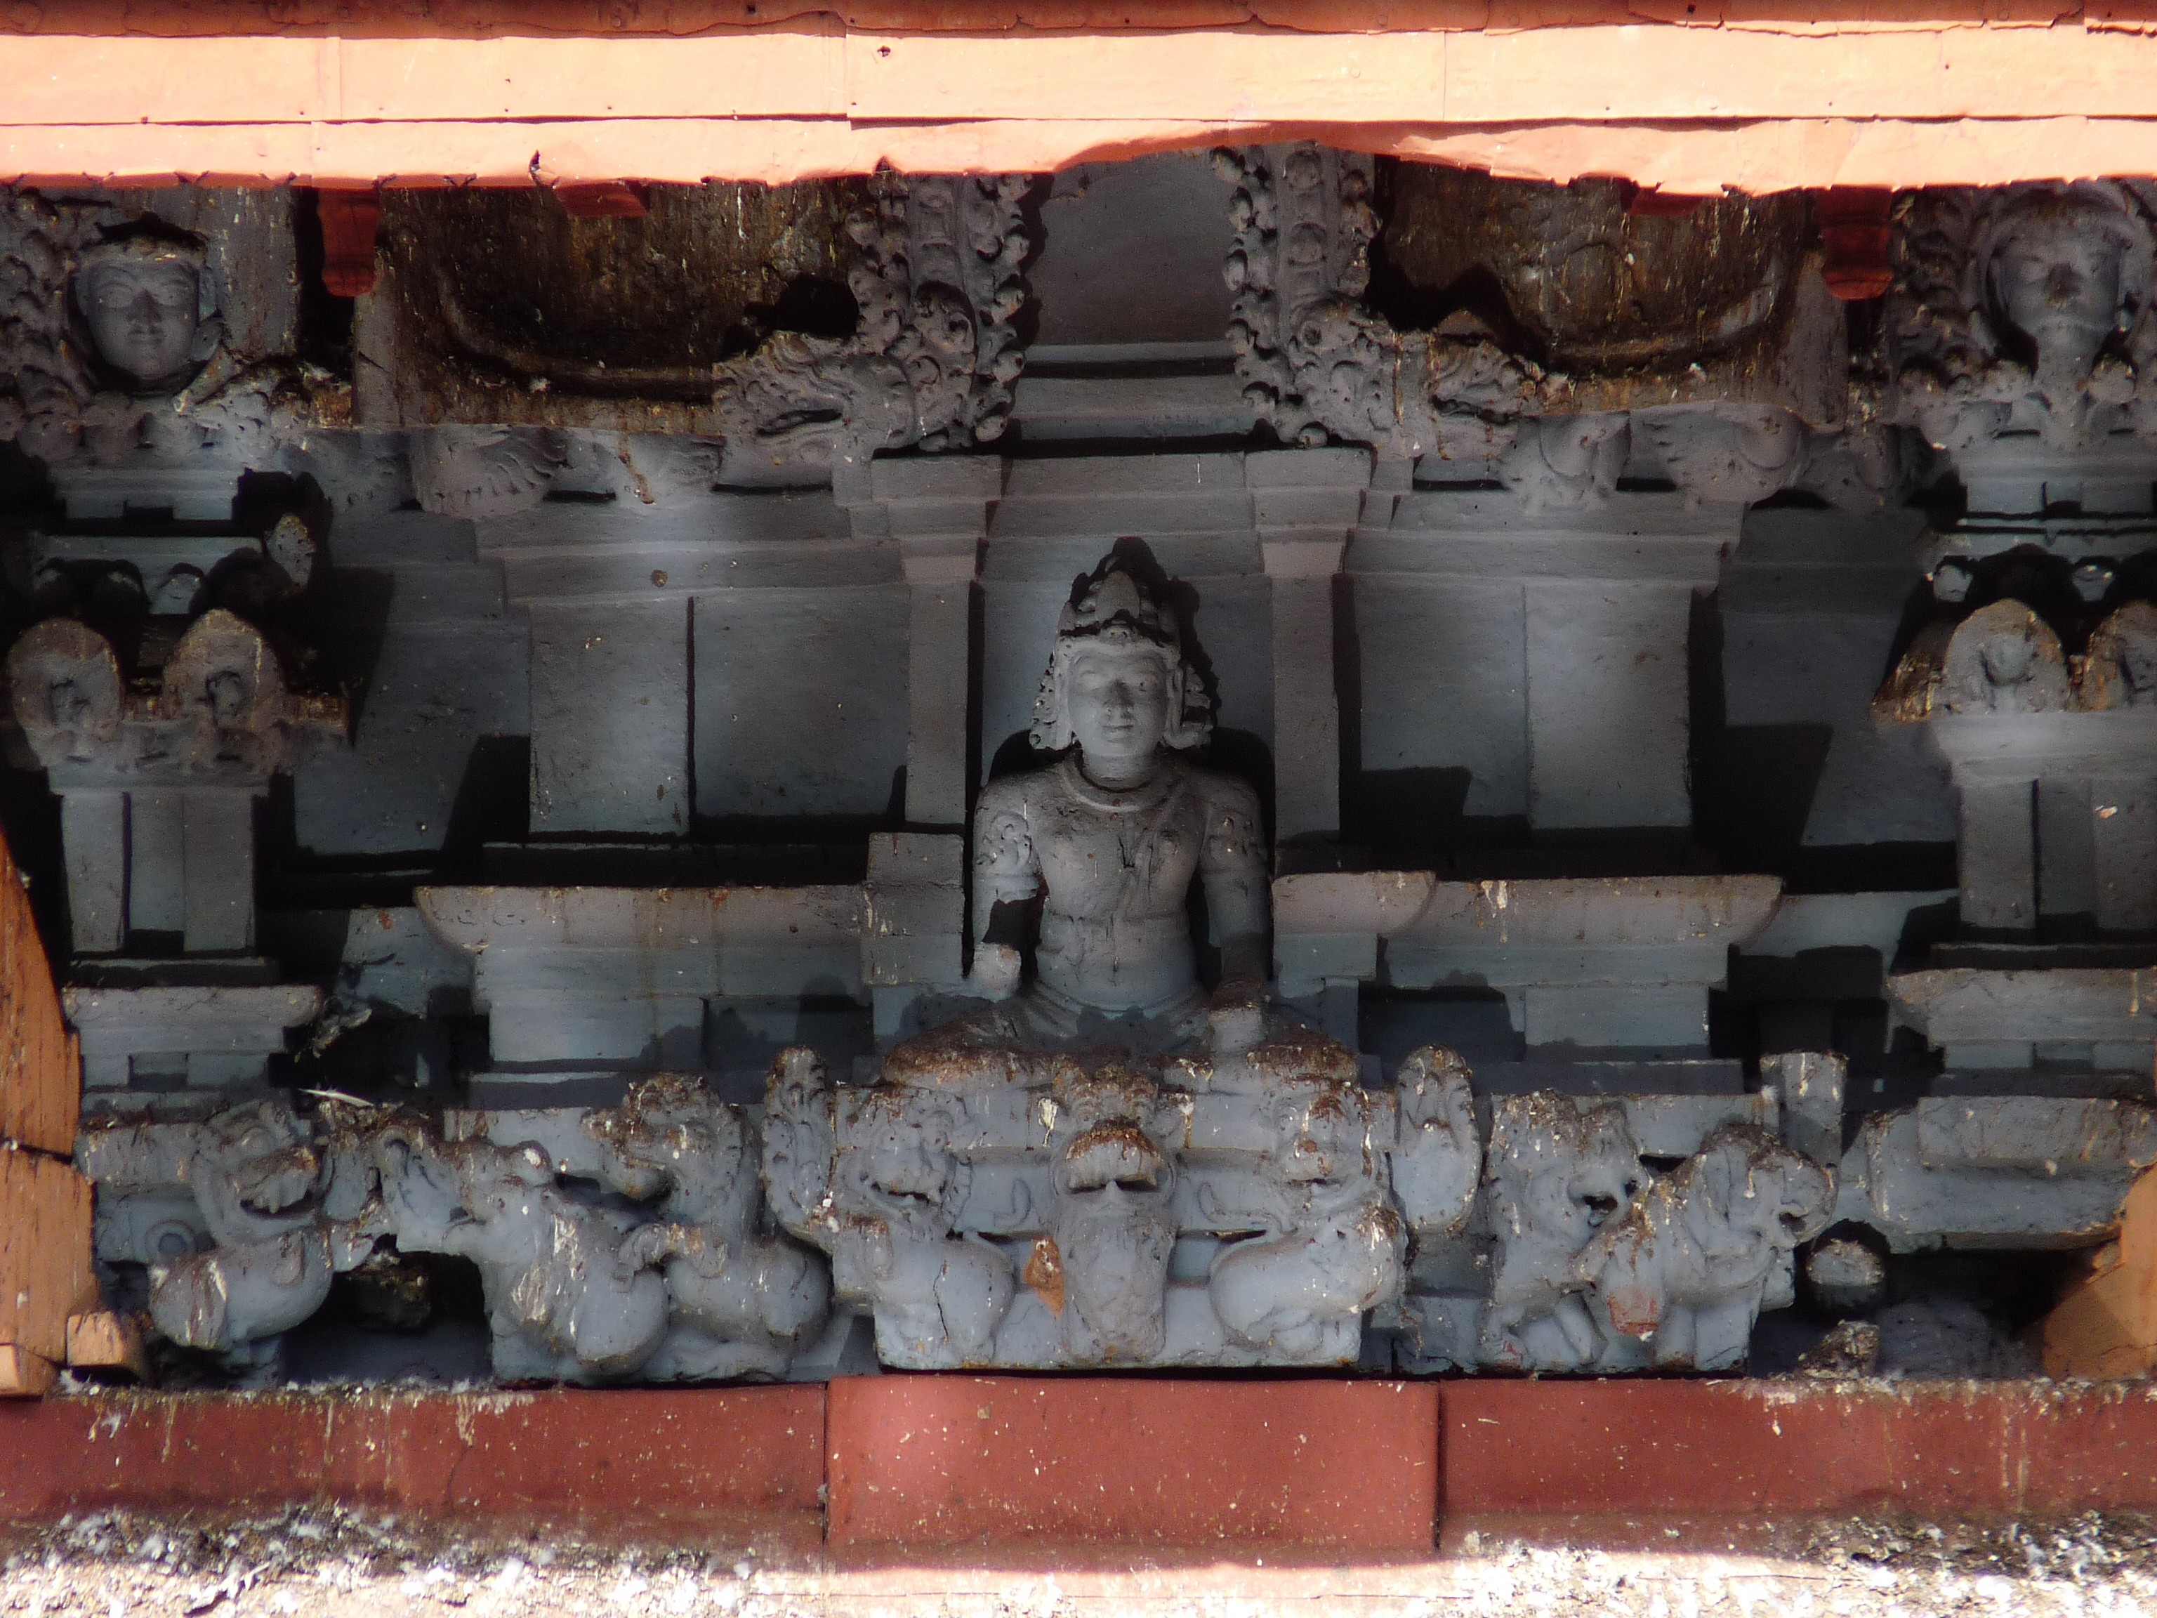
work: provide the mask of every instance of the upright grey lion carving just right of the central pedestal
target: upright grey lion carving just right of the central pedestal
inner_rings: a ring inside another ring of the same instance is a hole
[[[1516,1370],[1585,1370],[1607,1348],[1572,1264],[1622,1219],[1646,1174],[1624,1107],[1575,1096],[1503,1096],[1484,1156],[1497,1264],[1482,1359]]]

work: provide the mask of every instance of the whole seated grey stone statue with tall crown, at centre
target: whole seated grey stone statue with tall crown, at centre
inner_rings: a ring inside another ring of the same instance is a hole
[[[971,982],[994,1005],[897,1046],[887,1079],[938,1083],[934,1070],[968,1066],[966,1053],[1182,1055],[1260,1040],[1264,831],[1249,785],[1180,757],[1210,727],[1173,613],[1111,557],[1063,608],[1033,703],[1033,744],[1063,757],[990,781],[975,809]],[[1210,997],[1184,908],[1193,880],[1221,938]],[[1035,900],[1027,984],[1018,917]]]

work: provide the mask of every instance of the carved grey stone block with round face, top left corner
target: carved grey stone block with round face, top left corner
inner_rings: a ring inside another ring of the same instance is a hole
[[[345,388],[296,356],[291,192],[0,205],[0,436],[50,466],[259,464]]]

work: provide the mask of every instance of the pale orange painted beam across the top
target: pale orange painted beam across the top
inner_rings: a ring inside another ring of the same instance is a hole
[[[2015,13],[2023,0],[1997,0],[1993,22],[1877,0],[1842,24],[1739,19],[1741,0],[1691,0],[1723,17],[1706,28],[1460,28],[1432,22],[1432,4],[1404,6],[1421,26],[1391,32],[964,35],[830,15],[718,28],[703,24],[712,6],[690,6],[690,37],[667,39],[0,30],[0,177],[787,181],[878,164],[1048,170],[1296,136],[1670,192],[2157,173],[2157,35]],[[440,0],[427,17],[446,28],[481,13],[503,6]],[[1359,15],[1391,13],[1372,0]]]

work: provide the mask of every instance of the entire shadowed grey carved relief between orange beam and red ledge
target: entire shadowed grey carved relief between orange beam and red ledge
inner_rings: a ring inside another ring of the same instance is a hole
[[[2157,190],[604,201],[6,194],[78,1363],[2084,1368]]]

